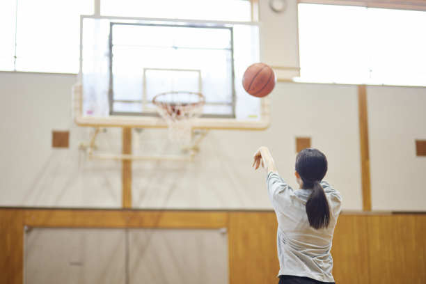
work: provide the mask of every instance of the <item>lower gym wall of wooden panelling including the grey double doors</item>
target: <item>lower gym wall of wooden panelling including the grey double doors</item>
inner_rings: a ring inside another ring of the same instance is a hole
[[[148,267],[144,276],[150,277],[150,283],[165,283],[169,276],[175,276],[178,283],[194,283],[200,272],[205,273],[206,281],[212,279],[212,271],[217,280],[226,276],[225,270],[230,284],[278,282],[274,212],[0,209],[0,216],[0,231],[4,232],[0,234],[0,271],[6,272],[0,274],[0,283],[22,284],[24,279],[47,283],[52,278],[49,271],[58,279],[79,283],[125,283],[126,277],[132,283],[143,278],[141,271]],[[123,228],[129,228],[128,232]],[[195,233],[185,238],[173,234],[177,239],[157,251],[152,245],[164,242],[167,236],[146,238],[146,230],[140,228],[171,229],[164,230],[166,234],[176,228],[175,232],[183,234],[191,232],[183,229],[212,230],[208,235]],[[218,233],[228,234],[228,253],[223,249],[226,238]],[[425,214],[341,214],[331,251],[336,283],[425,283],[425,233]],[[170,248],[177,242],[179,248]],[[214,246],[194,250],[200,242],[214,242]],[[181,259],[176,261],[173,255],[182,248],[189,251],[178,253]],[[186,260],[188,256],[198,259],[203,253],[209,258],[201,258],[195,270],[192,266],[182,269],[182,263],[194,263]],[[226,254],[228,268],[223,266]],[[147,256],[149,262],[140,261]],[[45,258],[43,269],[38,269],[37,258]],[[205,271],[207,264],[214,269]],[[161,268],[178,273],[165,276]],[[191,281],[189,277],[182,281],[191,271]]]

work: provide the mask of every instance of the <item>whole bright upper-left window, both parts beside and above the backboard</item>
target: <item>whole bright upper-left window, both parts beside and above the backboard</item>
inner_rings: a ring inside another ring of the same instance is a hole
[[[80,15],[93,15],[95,2],[1,0],[0,70],[77,73]],[[100,0],[100,10],[126,17],[251,21],[249,0]]]

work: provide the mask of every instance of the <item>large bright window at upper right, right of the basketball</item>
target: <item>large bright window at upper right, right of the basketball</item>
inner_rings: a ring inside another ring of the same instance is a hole
[[[299,4],[300,81],[426,86],[426,12]]]

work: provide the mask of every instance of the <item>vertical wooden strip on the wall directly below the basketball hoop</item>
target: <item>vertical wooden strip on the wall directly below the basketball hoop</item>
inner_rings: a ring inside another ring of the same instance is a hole
[[[122,133],[122,152],[123,154],[132,154],[132,128],[123,127]],[[123,208],[132,208],[132,160],[123,159],[121,168],[122,203]]]

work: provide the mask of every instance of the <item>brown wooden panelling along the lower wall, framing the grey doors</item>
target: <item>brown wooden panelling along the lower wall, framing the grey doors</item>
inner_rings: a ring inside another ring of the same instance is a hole
[[[24,226],[228,228],[230,284],[278,283],[274,212],[0,209],[0,283],[23,283]],[[426,214],[341,214],[336,283],[426,283]]]

